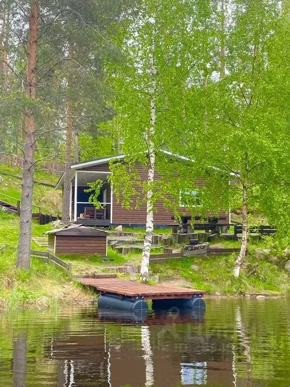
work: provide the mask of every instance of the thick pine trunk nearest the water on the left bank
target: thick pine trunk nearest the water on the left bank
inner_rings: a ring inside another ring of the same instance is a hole
[[[38,0],[30,2],[29,41],[26,95],[36,99],[37,87],[37,43],[38,43]],[[25,143],[22,169],[22,195],[20,210],[20,228],[16,267],[23,270],[30,268],[30,245],[32,228],[32,194],[34,174],[35,118],[31,107],[25,111]]]

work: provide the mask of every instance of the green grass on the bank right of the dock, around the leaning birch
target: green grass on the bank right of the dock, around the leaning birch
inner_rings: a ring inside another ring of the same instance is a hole
[[[256,246],[252,247],[253,251],[254,247]],[[186,282],[193,288],[205,290],[210,294],[290,294],[288,274],[266,260],[257,261],[253,253],[246,257],[246,265],[240,277],[235,279],[233,268],[236,256],[237,254],[181,258],[167,264],[151,265],[151,270],[153,274],[158,274],[162,281]],[[256,273],[248,277],[251,268],[257,263]],[[192,270],[192,265],[198,270]]]

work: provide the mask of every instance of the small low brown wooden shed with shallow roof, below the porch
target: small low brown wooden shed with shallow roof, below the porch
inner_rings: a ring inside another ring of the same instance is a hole
[[[107,255],[107,232],[83,224],[47,231],[48,250],[55,254]]]

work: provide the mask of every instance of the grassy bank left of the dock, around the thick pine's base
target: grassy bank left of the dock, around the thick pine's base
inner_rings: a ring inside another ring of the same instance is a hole
[[[33,236],[43,236],[51,225],[40,226],[33,223]],[[18,241],[18,217],[0,211],[0,307],[4,305],[43,304],[41,297],[47,297],[45,303],[86,302],[92,300],[92,294],[69,280],[66,274],[52,265],[37,259],[31,260],[28,272],[15,269]],[[43,249],[32,242],[34,249]]]

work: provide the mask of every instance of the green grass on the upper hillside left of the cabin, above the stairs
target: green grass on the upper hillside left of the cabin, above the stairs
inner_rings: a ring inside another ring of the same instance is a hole
[[[2,170],[3,170],[3,166],[0,166],[0,176],[1,176]],[[18,173],[17,171],[14,171],[13,174],[17,175]],[[55,176],[52,176],[52,177],[53,179],[55,179]],[[3,181],[0,182],[0,192],[4,193],[4,195],[20,200],[21,186],[22,186],[21,180],[8,175],[2,175],[2,178],[3,178]],[[13,205],[17,204],[15,200],[2,197],[1,195],[0,195],[0,200],[3,200],[4,202],[8,202]],[[43,214],[60,215],[61,203],[62,203],[62,199],[61,199],[60,190],[56,190],[53,187],[49,187],[41,184],[34,184],[33,204],[35,206],[40,207],[40,210]],[[34,207],[33,211],[38,212],[38,208]]]

